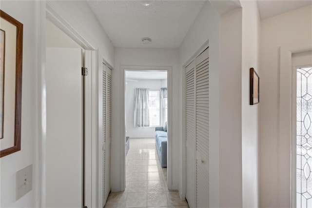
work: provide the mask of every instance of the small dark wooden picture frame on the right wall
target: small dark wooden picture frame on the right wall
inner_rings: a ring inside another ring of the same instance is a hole
[[[260,102],[260,78],[254,68],[250,68],[250,104],[258,104]]]

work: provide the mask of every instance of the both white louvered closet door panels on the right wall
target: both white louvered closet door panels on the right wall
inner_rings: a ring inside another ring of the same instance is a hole
[[[185,68],[186,199],[190,208],[209,207],[209,53]]]

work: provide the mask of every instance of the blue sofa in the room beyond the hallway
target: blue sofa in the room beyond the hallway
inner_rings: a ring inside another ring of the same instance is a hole
[[[167,167],[167,125],[156,126],[155,128],[155,144],[162,167]]]

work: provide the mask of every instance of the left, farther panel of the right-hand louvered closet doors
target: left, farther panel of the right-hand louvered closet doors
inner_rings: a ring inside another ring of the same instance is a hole
[[[195,61],[185,68],[186,106],[186,198],[190,208],[196,206],[195,195]]]

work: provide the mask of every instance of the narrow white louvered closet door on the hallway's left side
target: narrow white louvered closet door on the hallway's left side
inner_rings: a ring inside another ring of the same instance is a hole
[[[112,70],[103,64],[102,73],[102,201],[105,204],[110,192]]]

